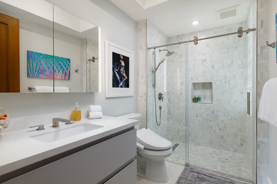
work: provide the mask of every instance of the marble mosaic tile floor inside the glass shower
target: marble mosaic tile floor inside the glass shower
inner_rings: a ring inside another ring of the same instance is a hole
[[[177,142],[171,141],[172,146]],[[179,144],[166,161],[185,165],[185,144]],[[190,165],[233,177],[251,179],[247,155],[203,146],[189,145]]]

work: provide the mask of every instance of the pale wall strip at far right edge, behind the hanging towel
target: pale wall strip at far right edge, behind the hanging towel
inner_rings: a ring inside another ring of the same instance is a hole
[[[275,15],[277,13],[277,1],[271,0],[270,10],[270,26],[269,26],[269,44],[276,41],[276,22]],[[269,50],[269,79],[277,77],[277,63],[276,63],[276,47]],[[269,179],[271,183],[277,183],[277,128],[269,125]]]

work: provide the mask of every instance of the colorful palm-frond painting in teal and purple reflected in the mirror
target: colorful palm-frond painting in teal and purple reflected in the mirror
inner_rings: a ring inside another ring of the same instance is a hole
[[[70,59],[27,51],[28,77],[70,80]]]

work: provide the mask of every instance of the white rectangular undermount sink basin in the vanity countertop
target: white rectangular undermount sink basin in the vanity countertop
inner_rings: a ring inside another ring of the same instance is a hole
[[[77,125],[68,125],[66,127],[53,128],[51,130],[29,134],[28,136],[35,140],[39,140],[43,143],[50,143],[56,140],[61,140],[67,137],[75,136],[75,135],[89,132],[102,127],[103,126],[101,125],[80,123]]]

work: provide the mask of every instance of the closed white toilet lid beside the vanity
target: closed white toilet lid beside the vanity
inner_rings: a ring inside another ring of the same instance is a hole
[[[155,134],[149,128],[137,131],[137,142],[150,150],[167,150],[171,148],[171,142]]]

